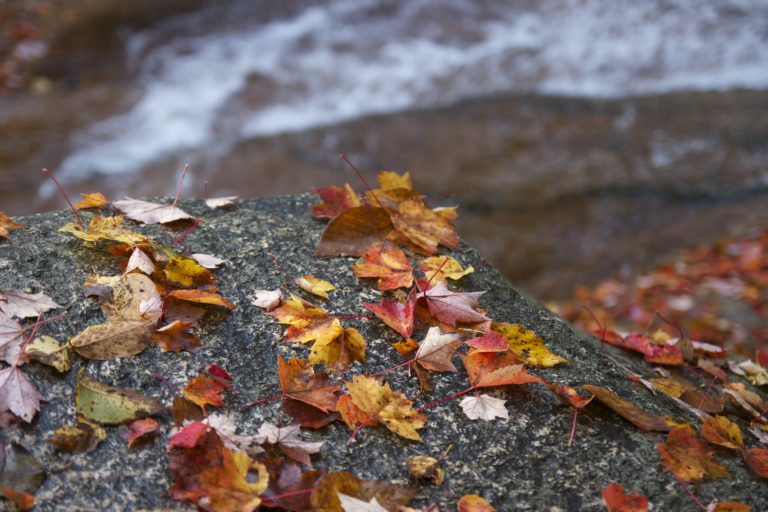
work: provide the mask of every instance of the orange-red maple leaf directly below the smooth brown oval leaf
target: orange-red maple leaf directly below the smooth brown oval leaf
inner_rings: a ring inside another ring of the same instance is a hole
[[[352,266],[357,277],[378,278],[380,290],[410,288],[413,284],[413,267],[405,253],[392,242],[378,242],[361,255],[362,263]]]

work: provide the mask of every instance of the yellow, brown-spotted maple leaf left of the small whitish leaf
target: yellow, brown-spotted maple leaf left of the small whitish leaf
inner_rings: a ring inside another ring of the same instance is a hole
[[[421,441],[418,429],[427,422],[426,416],[413,410],[413,402],[389,384],[356,375],[346,382],[352,403],[370,418],[375,418],[395,434],[413,441]]]

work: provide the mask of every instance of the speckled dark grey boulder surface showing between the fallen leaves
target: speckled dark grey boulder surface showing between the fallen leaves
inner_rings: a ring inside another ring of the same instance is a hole
[[[89,454],[60,455],[45,442],[56,427],[75,421],[73,386],[81,368],[107,384],[137,389],[170,405],[172,392],[152,372],[183,385],[215,363],[234,377],[234,393],[227,397],[228,406],[223,409],[236,415],[240,431],[253,433],[265,420],[280,424],[288,421],[275,402],[237,412],[242,403],[279,392],[275,362],[278,353],[306,357],[308,352],[305,347],[281,343],[283,328],[249,305],[253,289],[272,289],[286,279],[270,253],[282,261],[291,278],[309,273],[333,282],[338,289],[324,304],[332,314],[364,314],[361,302],[377,302],[380,298],[377,290],[354,277],[353,259],[314,256],[323,224],[311,218],[312,203],[313,198],[304,195],[243,201],[230,211],[211,211],[199,201],[182,204],[189,213],[203,219],[187,238],[186,247],[191,252],[214,254],[230,261],[216,271],[217,284],[222,295],[238,305],[231,314],[206,317],[199,333],[204,343],[200,352],[174,354],[150,348],[139,356],[104,362],[76,357],[73,369],[64,376],[36,363],[24,367],[48,402],[31,425],[11,426],[2,435],[6,441],[16,441],[31,450],[50,473],[37,492],[39,505],[35,510],[177,506],[166,497],[169,479],[165,442],[172,423],[169,416],[159,418],[163,425],[159,439],[142,449],[128,450],[118,436],[119,428],[108,428],[107,440]],[[116,274],[115,260],[57,233],[70,220],[67,212],[19,220],[28,228],[0,243],[0,289],[43,291],[63,305],[68,314],[43,328],[44,334],[60,341],[100,322],[99,306],[83,296],[82,283],[88,273]],[[161,243],[177,236],[162,227],[139,226],[136,230]],[[462,246],[455,256],[476,268],[458,288],[487,290],[481,305],[491,318],[522,323],[541,336],[552,351],[570,360],[567,365],[533,373],[571,386],[605,386],[655,414],[694,420],[664,395],[653,396],[629,381],[599,351],[594,339],[574,331],[565,321],[521,295],[499,272],[483,265],[473,249]],[[397,335],[381,322],[356,319],[343,323],[360,329],[369,345],[367,364],[353,366],[350,374],[374,373],[399,361],[387,343],[396,341]],[[421,332],[415,334],[421,339]],[[636,361],[624,363],[639,371]],[[463,370],[435,375],[433,397],[419,396],[415,379],[409,379],[404,371],[388,374],[386,381],[414,399],[417,406],[467,386]],[[453,444],[444,462],[450,493],[447,488],[425,485],[420,487],[416,502],[438,502],[442,510],[455,509],[450,495],[469,493],[483,495],[504,511],[603,510],[600,489],[610,481],[647,495],[656,510],[695,510],[674,478],[660,467],[656,444],[665,439],[664,435],[641,431],[594,403],[580,415],[576,442],[569,448],[571,410],[542,386],[512,386],[492,394],[507,400],[508,420],[470,421],[457,401],[447,402],[426,411],[428,422],[421,430],[423,443],[405,441],[380,426],[363,429],[351,445],[347,444],[350,432],[343,424],[306,430],[305,436],[325,441],[320,456],[315,458],[318,468],[345,469],[362,478],[400,483],[408,479],[408,456],[436,456]],[[698,421],[694,423],[698,425]],[[748,439],[747,444],[753,446],[753,441]],[[736,500],[752,504],[753,510],[768,508],[765,482],[753,476],[735,453],[719,450],[718,458],[733,476],[705,481],[702,500]]]

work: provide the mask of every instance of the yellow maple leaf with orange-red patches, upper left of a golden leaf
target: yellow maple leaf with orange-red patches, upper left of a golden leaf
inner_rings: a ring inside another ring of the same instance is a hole
[[[281,324],[290,325],[283,341],[308,343],[314,340],[324,345],[344,331],[337,318],[293,294],[290,300],[268,314]]]

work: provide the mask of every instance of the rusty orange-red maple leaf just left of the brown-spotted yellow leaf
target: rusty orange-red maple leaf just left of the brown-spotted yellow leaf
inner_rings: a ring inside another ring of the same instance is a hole
[[[284,396],[323,412],[336,410],[336,393],[341,387],[332,384],[325,373],[315,373],[307,361],[295,357],[286,361],[278,355],[277,376]]]

